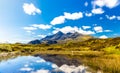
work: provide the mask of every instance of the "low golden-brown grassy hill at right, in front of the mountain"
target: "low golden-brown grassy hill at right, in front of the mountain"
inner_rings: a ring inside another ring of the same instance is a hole
[[[100,39],[100,38],[92,38],[86,41],[81,42],[67,42],[64,44],[66,48],[82,48],[82,50],[93,50],[93,51],[107,51],[107,52],[116,52],[120,51],[120,37],[115,38],[107,38],[107,39]],[[116,52],[118,53],[118,52]]]

